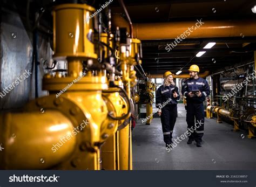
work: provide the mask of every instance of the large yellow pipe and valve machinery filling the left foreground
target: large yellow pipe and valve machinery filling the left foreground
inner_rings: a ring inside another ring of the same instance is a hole
[[[49,96],[0,114],[0,169],[132,169],[130,89],[137,84],[140,40],[115,41],[116,66],[108,53],[110,63],[98,63],[93,19],[86,20],[93,12],[86,4],[53,9],[54,58],[67,60],[68,72],[44,75]],[[101,44],[113,42],[111,34],[100,36]]]

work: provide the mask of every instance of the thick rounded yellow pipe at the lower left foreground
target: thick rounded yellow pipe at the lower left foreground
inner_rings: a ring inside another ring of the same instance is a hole
[[[0,169],[51,168],[75,149],[73,124],[56,110],[5,113],[0,119]]]

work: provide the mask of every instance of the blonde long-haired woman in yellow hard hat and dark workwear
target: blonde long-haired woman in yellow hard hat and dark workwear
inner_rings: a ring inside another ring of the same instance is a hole
[[[164,84],[157,89],[156,106],[161,117],[165,146],[172,143],[172,132],[177,117],[177,100],[180,95],[178,87],[173,82],[172,73],[164,73]]]

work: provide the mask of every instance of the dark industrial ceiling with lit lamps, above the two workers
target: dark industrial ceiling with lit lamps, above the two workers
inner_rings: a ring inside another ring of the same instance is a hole
[[[256,13],[251,10],[254,1],[132,0],[125,1],[125,4],[133,24],[188,21],[196,23],[197,19],[202,19],[205,25],[207,21],[215,21],[218,24],[221,20],[237,20],[242,24],[245,19],[250,24],[250,20],[255,22],[256,19]],[[117,1],[113,2],[112,6],[112,12],[120,13],[120,16],[125,17]],[[172,29],[170,29],[171,32]],[[256,36],[256,30],[252,35]],[[161,74],[167,70],[176,73],[181,69],[184,72],[191,64],[198,64],[201,72],[206,70],[216,72],[236,64],[250,63],[253,61],[253,51],[256,50],[256,37],[254,36],[246,36],[241,32],[235,37],[186,38],[170,52],[165,49],[166,44],[173,43],[175,38],[142,40],[143,68],[150,74]],[[212,49],[202,50],[209,42],[216,44]],[[201,57],[196,57],[199,51],[206,51],[206,53]]]

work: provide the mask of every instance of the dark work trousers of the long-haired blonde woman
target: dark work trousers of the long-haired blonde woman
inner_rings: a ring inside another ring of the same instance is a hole
[[[177,104],[166,105],[161,109],[161,123],[164,134],[164,142],[172,143],[172,132],[177,117]]]

